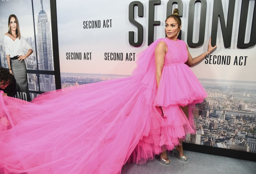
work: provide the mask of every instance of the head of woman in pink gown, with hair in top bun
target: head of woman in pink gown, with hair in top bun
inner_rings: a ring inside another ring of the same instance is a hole
[[[173,10],[173,14],[169,15],[165,20],[165,33],[168,39],[177,40],[181,30],[181,19],[177,8]]]

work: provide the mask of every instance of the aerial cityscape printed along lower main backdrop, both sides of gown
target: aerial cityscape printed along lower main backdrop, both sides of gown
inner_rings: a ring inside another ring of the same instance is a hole
[[[124,76],[61,73],[61,87],[121,77]],[[188,134],[185,142],[256,153],[256,82],[199,80],[208,97],[196,105],[193,115],[197,131]]]

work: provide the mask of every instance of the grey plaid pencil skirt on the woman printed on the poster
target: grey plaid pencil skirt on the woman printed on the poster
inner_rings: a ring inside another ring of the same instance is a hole
[[[21,62],[19,60],[10,60],[11,61],[11,68],[13,75],[16,79],[16,83],[19,85],[18,92],[21,92],[21,94],[24,92],[26,93],[27,99],[23,98],[23,95],[21,95],[21,99],[30,101],[30,95],[28,92],[28,82],[27,82],[27,67],[24,60]]]

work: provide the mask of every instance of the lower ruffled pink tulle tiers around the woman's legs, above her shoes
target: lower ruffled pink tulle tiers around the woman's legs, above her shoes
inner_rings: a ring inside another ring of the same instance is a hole
[[[175,105],[164,107],[164,112],[166,117],[159,120],[155,119],[154,114],[151,115],[150,131],[140,138],[128,163],[142,164],[147,160],[153,160],[155,154],[172,150],[179,145],[179,140],[184,140],[186,134],[195,133],[192,112],[189,112],[189,120],[181,108]],[[160,122],[162,126],[159,127],[157,125]]]

